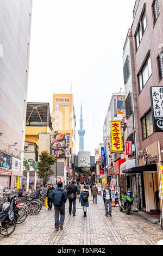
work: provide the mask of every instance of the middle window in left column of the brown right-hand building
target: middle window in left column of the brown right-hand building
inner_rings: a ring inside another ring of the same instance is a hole
[[[145,64],[143,65],[143,67],[138,75],[140,92],[141,92],[142,88],[145,86],[145,84],[147,83],[151,74],[152,74],[151,57],[148,56]]]

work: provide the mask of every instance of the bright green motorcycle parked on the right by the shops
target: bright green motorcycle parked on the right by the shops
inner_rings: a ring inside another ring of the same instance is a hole
[[[130,214],[131,206],[133,202],[134,202],[134,197],[131,192],[122,194],[119,201],[120,211],[125,210],[127,215]]]

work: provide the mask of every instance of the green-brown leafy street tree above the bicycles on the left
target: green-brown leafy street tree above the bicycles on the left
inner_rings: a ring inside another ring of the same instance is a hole
[[[42,179],[43,186],[49,180],[49,177],[54,174],[51,166],[56,162],[54,156],[51,156],[47,150],[42,151],[39,155],[40,161],[38,162],[38,177]]]

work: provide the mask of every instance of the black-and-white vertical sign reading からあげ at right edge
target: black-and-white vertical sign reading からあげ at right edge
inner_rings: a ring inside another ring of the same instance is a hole
[[[163,131],[163,86],[151,87],[153,130]]]

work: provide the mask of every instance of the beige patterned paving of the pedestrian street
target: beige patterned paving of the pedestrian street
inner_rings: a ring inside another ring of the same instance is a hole
[[[163,239],[163,230],[131,212],[127,216],[118,208],[112,208],[112,217],[105,217],[102,197],[98,203],[90,202],[87,217],[77,199],[76,217],[68,215],[64,230],[54,229],[54,210],[41,210],[39,215],[29,215],[17,225],[9,237],[0,236],[0,245],[156,245]]]

